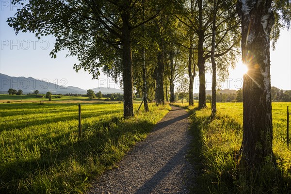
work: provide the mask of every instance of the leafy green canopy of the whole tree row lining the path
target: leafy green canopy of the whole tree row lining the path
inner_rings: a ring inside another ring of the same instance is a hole
[[[187,67],[189,103],[193,104],[197,71],[199,108],[206,107],[206,71],[212,70],[213,80],[216,74],[226,79],[228,67],[240,55],[238,2],[236,6],[236,0],[30,0],[7,21],[16,34],[32,32],[39,39],[53,35],[50,56],[67,49],[67,56],[79,60],[76,71],[84,69],[97,79],[102,70],[120,81],[124,117],[129,117],[135,92],[163,104],[170,91],[173,101],[174,83]],[[270,38],[275,44],[280,28],[290,27],[290,0],[273,0],[270,9],[275,18]],[[213,92],[215,88],[213,82]]]

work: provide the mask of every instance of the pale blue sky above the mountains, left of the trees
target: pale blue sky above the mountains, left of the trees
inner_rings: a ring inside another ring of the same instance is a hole
[[[119,88],[110,78],[101,75],[99,80],[92,80],[88,72],[78,73],[73,65],[78,63],[76,57],[65,57],[68,51],[57,54],[56,59],[49,56],[54,47],[54,37],[42,37],[38,40],[34,34],[18,33],[6,22],[14,16],[17,7],[10,5],[9,0],[0,0],[0,72],[14,77],[32,77],[65,86],[77,86],[82,89],[96,87]]]

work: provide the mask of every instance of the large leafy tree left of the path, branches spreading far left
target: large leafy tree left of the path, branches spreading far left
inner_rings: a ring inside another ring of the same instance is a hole
[[[8,23],[18,32],[32,32],[36,37],[53,35],[52,57],[62,49],[77,56],[74,69],[89,71],[93,78],[99,69],[117,81],[122,74],[124,116],[133,116],[132,38],[133,32],[156,18],[174,0],[30,0]],[[22,3],[12,0],[13,4]],[[178,4],[178,1],[175,2]],[[142,18],[143,8],[146,11]]]

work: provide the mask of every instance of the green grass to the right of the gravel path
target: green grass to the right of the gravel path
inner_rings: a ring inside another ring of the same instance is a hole
[[[242,103],[217,103],[214,120],[210,120],[210,108],[198,110],[196,104],[188,107],[194,137],[190,159],[199,172],[195,180],[199,187],[194,193],[290,194],[291,146],[286,146],[290,105],[272,104],[276,165],[266,162],[258,169],[242,167],[237,157],[242,143]]]

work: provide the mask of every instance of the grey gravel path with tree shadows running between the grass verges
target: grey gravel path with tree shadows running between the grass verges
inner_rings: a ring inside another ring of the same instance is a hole
[[[185,156],[191,142],[188,113],[172,110],[118,164],[98,179],[89,194],[188,194],[193,166]]]

